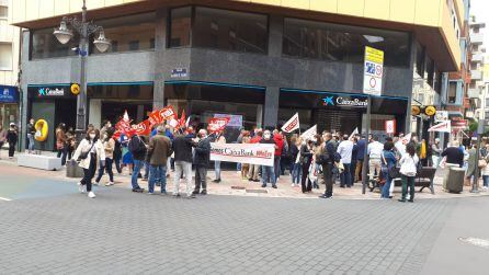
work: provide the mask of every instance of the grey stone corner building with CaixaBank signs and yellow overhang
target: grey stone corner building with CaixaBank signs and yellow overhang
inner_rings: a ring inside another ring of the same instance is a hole
[[[15,22],[25,28],[25,117],[75,126],[77,96],[68,87],[80,80],[78,41],[61,45],[53,30],[81,1],[50,2]],[[303,129],[317,124],[351,133],[365,125],[363,56],[372,46],[385,51],[383,95],[371,99],[373,130],[380,134],[386,119],[396,119],[406,131],[414,72],[440,94],[443,72],[460,64],[460,0],[87,4],[112,41],[109,53],[89,49],[87,123],[95,126],[124,110],[140,121],[152,107],[173,105],[201,127],[209,117],[232,115],[235,135],[239,127],[280,126],[296,112]]]

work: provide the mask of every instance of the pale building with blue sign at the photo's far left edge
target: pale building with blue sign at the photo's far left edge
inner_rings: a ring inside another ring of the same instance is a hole
[[[20,28],[12,26],[12,0],[0,0],[0,125],[19,123]]]

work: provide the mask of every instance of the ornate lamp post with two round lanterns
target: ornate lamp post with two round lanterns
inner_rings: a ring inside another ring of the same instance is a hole
[[[87,126],[87,55],[88,55],[88,41],[89,36],[94,33],[99,33],[99,38],[93,41],[99,51],[103,53],[109,49],[111,43],[105,38],[105,34],[102,26],[98,26],[92,22],[87,22],[87,5],[83,0],[83,7],[81,8],[81,21],[78,18],[64,16],[59,28],[55,28],[54,35],[61,44],[67,44],[73,36],[73,32],[68,27],[68,24],[72,30],[80,34],[80,43],[78,48],[78,55],[80,57],[80,94],[77,98],[77,125],[76,135],[77,139],[81,139],[81,135],[86,131]]]

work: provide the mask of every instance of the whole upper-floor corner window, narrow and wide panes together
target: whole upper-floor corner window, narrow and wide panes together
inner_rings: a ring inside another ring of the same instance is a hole
[[[268,51],[268,16],[185,7],[170,12],[169,47],[193,46],[244,53]]]

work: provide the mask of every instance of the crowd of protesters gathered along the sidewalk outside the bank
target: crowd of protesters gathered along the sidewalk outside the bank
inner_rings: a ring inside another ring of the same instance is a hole
[[[34,151],[34,119],[27,125],[27,152]],[[57,157],[61,164],[75,160],[83,168],[83,179],[79,183],[81,192],[95,197],[92,181],[99,185],[102,176],[109,176],[106,186],[114,184],[114,171],[122,173],[127,168],[134,192],[144,192],[138,180],[148,181],[148,193],[153,194],[156,186],[167,194],[167,177],[173,171],[174,196],[180,196],[180,181],[186,183],[185,196],[194,198],[197,194],[207,194],[207,170],[211,164],[211,142],[226,144],[226,135],[216,133],[207,135],[205,129],[197,133],[192,126],[174,131],[169,125],[153,127],[151,135],[140,136],[134,130],[114,137],[115,128],[105,122],[99,130],[89,125],[86,138],[77,145],[72,128],[59,124],[56,128]],[[130,138],[128,138],[130,136]],[[489,188],[489,144],[480,150],[480,160],[476,162],[477,148],[471,145],[465,148],[456,140],[443,149],[440,139],[427,144],[418,141],[412,135],[408,142],[401,142],[403,135],[387,137],[384,142],[371,135],[368,139],[360,134],[345,135],[323,131],[303,138],[297,134],[284,134],[278,129],[253,130],[242,129],[235,141],[238,144],[274,145],[273,167],[251,163],[237,163],[242,180],[261,182],[262,187],[269,184],[277,188],[277,182],[288,170],[291,185],[299,187],[303,193],[311,193],[322,183],[325,192],[321,198],[333,195],[333,185],[350,188],[362,182],[365,156],[367,157],[367,180],[376,181],[380,187],[382,198],[393,198],[394,181],[401,180],[402,195],[400,202],[413,202],[414,176],[422,167],[459,167],[466,170],[466,181],[476,176],[475,167],[480,168],[477,176],[482,176],[484,190]],[[9,157],[12,158],[18,141],[14,124],[8,130],[0,126],[0,148],[9,142]],[[192,171],[195,171],[194,174]],[[214,183],[221,181],[221,162],[214,161]],[[409,188],[409,194],[408,194]]]

